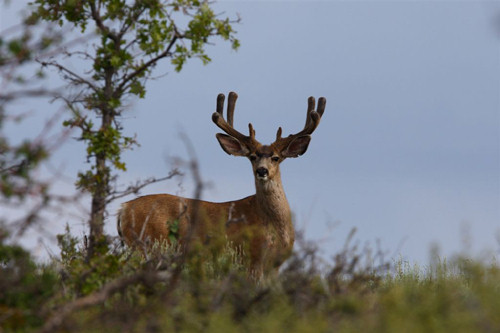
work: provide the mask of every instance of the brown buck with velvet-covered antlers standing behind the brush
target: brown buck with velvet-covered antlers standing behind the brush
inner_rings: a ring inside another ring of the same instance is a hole
[[[255,195],[214,203],[155,194],[126,202],[118,213],[117,224],[118,232],[127,245],[169,242],[172,236],[183,242],[188,235],[195,235],[202,243],[208,243],[212,238],[222,236],[243,249],[249,269],[255,274],[277,269],[290,255],[295,231],[279,166],[285,159],[306,152],[311,134],[325,110],[326,99],[321,97],[317,110],[314,110],[315,99],[309,97],[306,123],[300,132],[282,137],[280,127],[276,140],[270,145],[262,145],[255,139],[252,124],[248,124],[248,136],[233,127],[237,98],[236,93],[229,93],[225,120],[225,97],[219,94],[212,121],[226,133],[216,134],[222,149],[229,155],[244,156],[250,160]]]

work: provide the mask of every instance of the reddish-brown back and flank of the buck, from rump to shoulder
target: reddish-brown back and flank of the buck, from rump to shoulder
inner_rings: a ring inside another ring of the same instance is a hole
[[[147,195],[122,204],[118,232],[129,245],[173,238],[182,241],[190,228],[202,241],[220,235],[232,238],[242,229],[260,223],[253,201],[254,196],[213,203],[170,194]]]

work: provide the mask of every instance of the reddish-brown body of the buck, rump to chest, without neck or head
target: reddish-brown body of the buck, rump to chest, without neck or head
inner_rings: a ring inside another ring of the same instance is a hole
[[[293,239],[279,241],[273,223],[257,213],[255,200],[255,196],[249,196],[213,203],[169,194],[143,196],[122,205],[118,232],[132,246],[173,239],[182,243],[191,232],[196,240],[207,245],[224,237],[245,253],[250,270],[262,272],[279,267],[290,254]]]

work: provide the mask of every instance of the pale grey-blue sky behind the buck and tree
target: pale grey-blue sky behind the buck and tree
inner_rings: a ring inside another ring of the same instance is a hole
[[[174,157],[187,158],[182,132],[210,184],[205,200],[251,195],[250,163],[224,153],[215,139],[217,94],[238,93],[235,127],[245,131],[251,122],[262,143],[271,143],[279,126],[284,135],[302,129],[307,98],[324,96],[326,111],[306,154],[281,164],[296,229],[307,240],[330,256],[356,228],[360,244],[380,242],[393,258],[426,262],[433,246],[443,256],[500,256],[500,3],[215,7],[241,16],[240,49],[217,40],[209,65],[191,60],[181,73],[168,62],[158,66],[146,98],[124,116],[125,131],[141,146],[125,154],[123,183],[162,176]],[[54,160],[70,180],[87,167],[78,143]],[[179,182],[142,194],[192,196],[189,176]],[[113,235],[118,207],[111,206],[106,225]],[[85,218],[66,221],[77,228]],[[66,222],[52,223],[56,230]]]

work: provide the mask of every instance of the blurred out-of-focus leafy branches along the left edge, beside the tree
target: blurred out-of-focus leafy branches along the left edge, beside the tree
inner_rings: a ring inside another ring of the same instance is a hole
[[[42,85],[45,73],[34,65],[37,58],[57,50],[62,40],[60,31],[30,18],[0,32],[0,204],[15,205],[28,197],[38,197],[39,205],[24,216],[27,223],[36,220],[52,199],[50,184],[36,177],[35,172],[48,160],[61,137],[47,136],[48,123],[38,135],[13,141],[6,128],[22,122],[27,115],[13,112],[10,105],[17,100],[54,96],[55,90]]]

